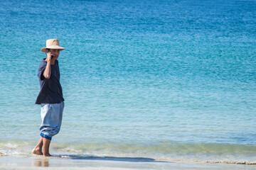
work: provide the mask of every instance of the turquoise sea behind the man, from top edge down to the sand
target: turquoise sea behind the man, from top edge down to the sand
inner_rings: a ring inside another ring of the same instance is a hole
[[[39,139],[37,69],[58,38],[55,152],[256,157],[256,1],[2,1],[0,152]],[[54,154],[54,153],[53,153]]]

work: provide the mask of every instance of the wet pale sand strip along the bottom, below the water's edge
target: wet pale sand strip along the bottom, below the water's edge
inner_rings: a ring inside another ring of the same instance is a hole
[[[255,164],[230,164],[225,162],[161,161],[143,157],[79,157],[78,155],[33,155],[1,156],[1,169],[255,169]],[[246,162],[244,162],[246,163]]]

